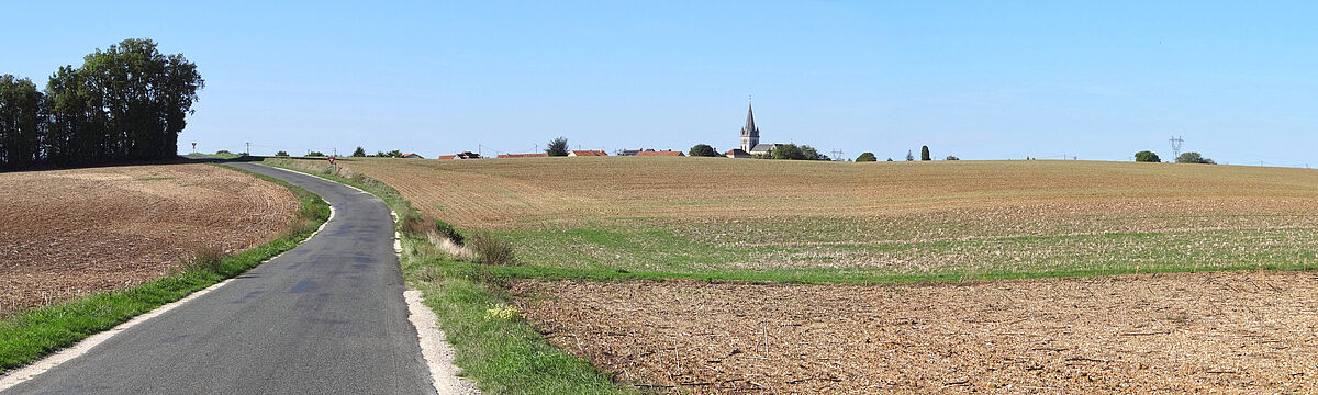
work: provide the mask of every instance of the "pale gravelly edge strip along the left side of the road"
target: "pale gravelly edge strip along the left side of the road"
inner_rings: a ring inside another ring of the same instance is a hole
[[[330,221],[333,220],[333,215],[335,215],[335,209],[333,209],[333,205],[331,205],[330,207],[330,217],[326,219],[324,224],[320,224],[320,228],[316,228],[316,232],[311,232],[311,236],[307,236],[307,238],[304,238],[302,242],[306,242],[307,240],[311,240],[312,237],[316,237],[316,234],[320,234],[320,230],[323,230],[326,228],[326,225],[330,225]],[[302,244],[299,242],[298,246],[301,246],[301,245]],[[294,249],[297,249],[297,246],[294,246],[293,249],[289,249],[289,251],[291,251]],[[283,253],[279,253],[278,255],[274,255],[274,258],[261,261],[261,265],[265,265],[266,262],[274,261],[274,259],[282,257],[283,254],[287,254],[289,251],[283,251]],[[42,373],[46,373],[46,371],[49,371],[51,369],[55,369],[55,366],[59,366],[61,363],[65,363],[65,362],[69,362],[69,361],[71,361],[74,358],[82,357],[83,354],[86,354],[87,352],[90,352],[92,348],[95,348],[96,345],[100,345],[101,342],[105,342],[107,340],[109,340],[111,337],[113,337],[115,334],[119,334],[119,333],[121,333],[124,330],[128,330],[129,328],[133,328],[137,324],[145,323],[146,320],[150,320],[150,319],[154,319],[154,317],[157,317],[159,315],[163,315],[163,313],[166,313],[166,312],[169,312],[169,311],[171,311],[171,309],[174,309],[174,308],[177,308],[179,305],[183,305],[185,303],[187,303],[187,302],[190,302],[192,299],[202,298],[202,295],[206,295],[206,294],[210,294],[211,291],[219,290],[220,287],[228,284],[229,282],[232,282],[235,279],[237,279],[237,276],[225,279],[223,282],[219,282],[219,283],[215,283],[215,284],[212,284],[210,287],[206,287],[206,288],[203,288],[200,291],[192,292],[192,294],[190,294],[187,296],[183,296],[183,299],[162,304],[161,307],[157,307],[156,309],[152,309],[149,312],[145,312],[145,313],[141,313],[141,315],[138,315],[136,317],[132,317],[128,321],[116,325],[115,328],[109,328],[108,330],[104,330],[104,332],[88,336],[87,338],[83,338],[82,341],[79,341],[78,344],[74,344],[74,345],[67,346],[67,348],[65,348],[65,349],[62,349],[59,352],[55,352],[54,354],[50,354],[50,356],[46,356],[45,358],[41,358],[41,361],[33,362],[32,365],[20,367],[17,370],[11,370],[9,373],[5,373],[4,375],[0,375],[0,391],[4,391],[4,390],[8,390],[9,387],[21,384],[22,382],[26,382],[26,381],[29,381],[29,379],[32,379],[32,378],[34,378],[34,377],[37,377],[37,375],[40,375]]]

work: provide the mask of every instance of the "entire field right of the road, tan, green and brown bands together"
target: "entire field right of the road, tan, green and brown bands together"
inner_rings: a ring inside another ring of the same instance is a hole
[[[525,266],[494,273],[525,278],[511,282],[525,316],[552,344],[647,388],[1302,392],[1318,374],[1304,346],[1318,325],[1311,273],[1139,274],[1314,267],[1315,171],[344,165],[428,216],[515,244]],[[1119,276],[1049,278],[1101,274]],[[1023,279],[986,280],[996,278]],[[904,283],[846,284],[873,282]]]

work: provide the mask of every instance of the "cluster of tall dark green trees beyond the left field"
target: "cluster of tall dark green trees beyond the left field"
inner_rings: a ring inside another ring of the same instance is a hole
[[[124,40],[55,71],[45,91],[0,76],[0,169],[173,158],[206,82],[182,54]]]

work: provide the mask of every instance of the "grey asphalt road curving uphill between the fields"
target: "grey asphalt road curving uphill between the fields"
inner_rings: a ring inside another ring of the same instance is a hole
[[[435,394],[384,201],[310,175],[231,166],[320,195],[333,220],[297,249],[5,395]]]

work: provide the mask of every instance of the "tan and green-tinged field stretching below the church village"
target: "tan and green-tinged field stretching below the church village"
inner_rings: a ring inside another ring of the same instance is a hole
[[[530,265],[1031,276],[1318,265],[1318,171],[1070,161],[369,159]],[[319,162],[316,163],[319,165]]]

